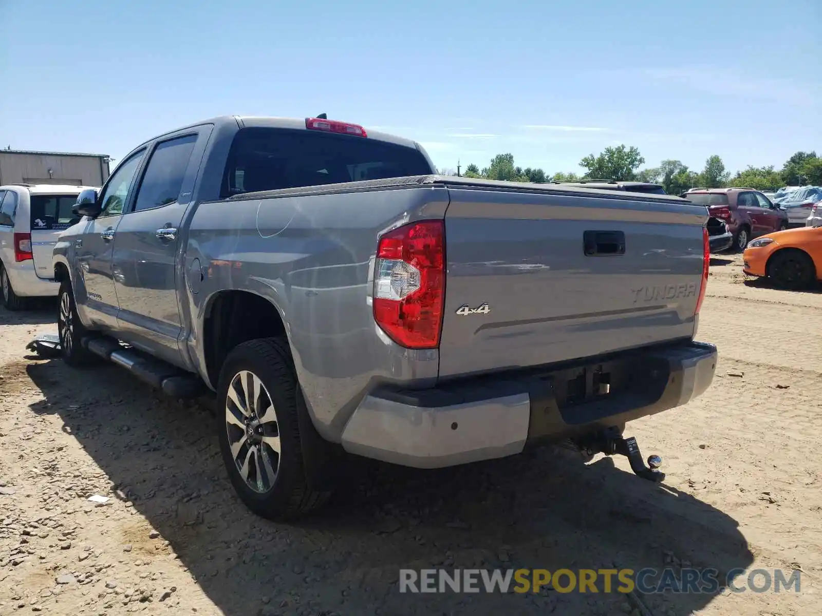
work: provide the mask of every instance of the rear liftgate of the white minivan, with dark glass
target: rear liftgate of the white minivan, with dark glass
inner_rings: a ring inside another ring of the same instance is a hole
[[[31,252],[35,260],[35,274],[39,278],[53,278],[52,251],[63,229],[80,222],[72,214],[77,193],[59,195],[30,195]]]

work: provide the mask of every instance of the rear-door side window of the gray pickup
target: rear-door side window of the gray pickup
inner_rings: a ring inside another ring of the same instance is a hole
[[[137,191],[134,211],[159,208],[178,200],[188,159],[196,143],[196,135],[178,137],[157,144]]]

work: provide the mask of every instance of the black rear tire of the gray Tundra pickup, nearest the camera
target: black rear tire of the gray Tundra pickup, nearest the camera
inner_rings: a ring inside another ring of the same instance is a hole
[[[248,375],[256,376],[261,387],[250,384],[252,393],[246,396],[244,391],[248,388],[243,386],[242,379],[249,378]],[[234,398],[229,399],[229,388],[233,389]],[[310,490],[306,482],[298,413],[307,411],[298,403],[298,388],[289,343],[284,338],[243,342],[229,352],[220,370],[217,425],[223,462],[242,502],[258,516],[270,520],[300,517],[330,496]],[[253,400],[253,408],[247,414],[234,402],[238,399],[247,404],[245,398]],[[274,410],[274,420],[265,421],[268,414],[262,407],[268,408],[267,402]],[[229,418],[229,413],[233,418]],[[238,422],[245,425],[244,430]],[[279,446],[279,453],[270,446],[272,443]],[[271,472],[273,477],[269,477]]]

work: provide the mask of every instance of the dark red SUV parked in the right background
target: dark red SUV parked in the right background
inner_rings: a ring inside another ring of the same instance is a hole
[[[787,229],[787,211],[752,188],[703,188],[685,198],[707,205],[711,216],[725,221],[733,234],[732,250],[744,251],[755,237]]]

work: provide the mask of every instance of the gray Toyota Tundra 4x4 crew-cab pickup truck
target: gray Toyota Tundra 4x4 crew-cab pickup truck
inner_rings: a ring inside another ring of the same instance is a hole
[[[622,433],[713,379],[707,210],[433,173],[322,116],[146,141],[58,238],[65,361],[214,390],[229,477],[270,518],[321,503],[345,453],[431,468],[572,439],[661,480]]]

